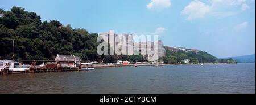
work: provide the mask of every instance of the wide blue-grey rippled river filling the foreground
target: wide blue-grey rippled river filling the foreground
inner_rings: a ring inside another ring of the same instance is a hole
[[[0,75],[0,93],[255,94],[255,63]]]

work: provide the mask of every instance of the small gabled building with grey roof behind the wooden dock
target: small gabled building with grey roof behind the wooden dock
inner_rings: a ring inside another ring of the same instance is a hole
[[[79,56],[75,55],[57,55],[55,58],[56,62],[80,62],[81,59]]]

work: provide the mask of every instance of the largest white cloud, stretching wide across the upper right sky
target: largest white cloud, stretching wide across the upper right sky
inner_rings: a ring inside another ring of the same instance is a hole
[[[181,15],[187,15],[188,20],[206,16],[221,18],[237,14],[239,10],[250,8],[247,3],[250,2],[247,0],[209,0],[207,3],[203,3],[194,0],[181,11]]]

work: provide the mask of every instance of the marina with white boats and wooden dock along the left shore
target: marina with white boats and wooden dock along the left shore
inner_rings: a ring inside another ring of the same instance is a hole
[[[70,63],[70,62],[47,62],[36,65],[36,60],[33,60],[30,65],[22,65],[11,60],[1,60],[0,74],[15,74],[15,73],[41,73],[41,72],[67,72],[67,71],[83,71],[93,70],[92,63]]]

